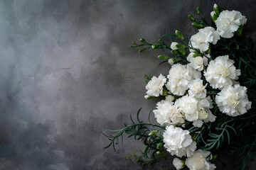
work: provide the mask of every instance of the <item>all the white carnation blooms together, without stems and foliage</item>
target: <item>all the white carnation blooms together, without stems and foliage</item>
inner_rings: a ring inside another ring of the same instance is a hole
[[[214,5],[214,8],[217,7]],[[240,69],[236,69],[235,62],[228,55],[213,60],[209,49],[210,44],[215,45],[220,37],[232,38],[247,19],[238,11],[222,11],[218,14],[213,11],[210,14],[217,30],[206,27],[191,36],[190,54],[186,57],[188,64],[174,64],[176,60],[169,59],[172,67],[167,77],[162,74],[152,77],[146,85],[146,98],[166,96],[165,100],[156,104],[153,113],[156,121],[166,127],[163,134],[166,150],[172,155],[187,157],[186,160],[174,159],[176,169],[184,166],[191,170],[215,169],[215,165],[209,162],[210,152],[196,150],[196,142],[189,131],[182,129],[188,122],[201,128],[203,123],[215,121],[216,116],[210,111],[213,101],[208,96],[207,87],[220,91],[215,96],[215,103],[227,115],[242,115],[252,104],[246,94],[247,88],[240,86],[237,81],[241,73]],[[171,43],[171,50],[180,50],[179,47],[182,45],[178,42]]]

